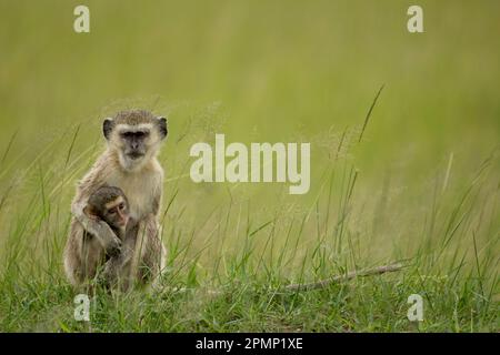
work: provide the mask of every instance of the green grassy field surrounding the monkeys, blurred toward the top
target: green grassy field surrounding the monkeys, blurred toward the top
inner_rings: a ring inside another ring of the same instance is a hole
[[[77,2],[0,4],[0,331],[500,329],[497,2],[421,1],[423,34],[401,1],[88,3],[89,34],[72,32]],[[131,106],[170,116],[164,290],[98,293],[77,322],[74,183],[101,119]],[[310,192],[194,184],[189,148],[216,133],[311,142]]]

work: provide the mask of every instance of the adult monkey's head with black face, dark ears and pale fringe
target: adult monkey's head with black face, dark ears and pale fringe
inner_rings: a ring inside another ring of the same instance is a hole
[[[103,133],[126,170],[136,170],[154,156],[167,136],[167,120],[146,111],[122,112],[107,119]]]

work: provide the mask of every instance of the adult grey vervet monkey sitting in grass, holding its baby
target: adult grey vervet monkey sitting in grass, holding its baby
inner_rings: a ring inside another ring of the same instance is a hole
[[[84,212],[89,196],[109,185],[123,191],[130,216],[137,221],[130,280],[154,283],[166,261],[158,227],[163,169],[157,155],[168,133],[167,120],[144,110],[122,111],[104,120],[102,132],[107,150],[79,182],[71,204],[73,217],[64,248],[67,277],[72,285],[81,286],[96,276],[102,254],[120,253],[122,241],[110,226]]]

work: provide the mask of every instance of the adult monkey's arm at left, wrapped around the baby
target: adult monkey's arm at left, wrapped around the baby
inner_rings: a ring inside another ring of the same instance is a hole
[[[111,227],[103,221],[91,219],[89,215],[84,213],[84,207],[87,206],[90,194],[92,193],[92,187],[96,190],[104,182],[99,179],[99,174],[96,172],[97,169],[92,169],[92,171],[83,178],[77,189],[77,195],[71,204],[71,213],[81,223],[83,229],[91,233],[106,252],[110,255],[113,255],[119,252],[121,241],[113,233]]]

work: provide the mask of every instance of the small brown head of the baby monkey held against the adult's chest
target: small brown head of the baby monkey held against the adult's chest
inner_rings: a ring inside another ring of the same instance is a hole
[[[102,186],[90,195],[87,213],[104,221],[116,231],[123,231],[129,222],[129,203],[121,189]]]

